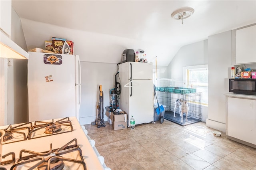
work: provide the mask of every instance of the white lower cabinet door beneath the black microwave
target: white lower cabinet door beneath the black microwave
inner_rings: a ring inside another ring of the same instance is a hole
[[[228,97],[228,136],[256,144],[256,101]]]

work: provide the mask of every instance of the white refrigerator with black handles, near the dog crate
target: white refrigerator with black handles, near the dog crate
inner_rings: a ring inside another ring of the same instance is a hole
[[[119,108],[128,113],[128,127],[154,121],[154,85],[152,63],[125,62],[119,66],[121,93]]]

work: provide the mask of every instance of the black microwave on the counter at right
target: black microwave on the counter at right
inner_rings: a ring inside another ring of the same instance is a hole
[[[229,79],[229,92],[256,95],[256,79]]]

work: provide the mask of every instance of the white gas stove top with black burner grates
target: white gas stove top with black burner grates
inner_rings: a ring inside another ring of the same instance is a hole
[[[10,134],[3,142],[1,168],[104,169],[75,117],[9,125],[0,129]]]

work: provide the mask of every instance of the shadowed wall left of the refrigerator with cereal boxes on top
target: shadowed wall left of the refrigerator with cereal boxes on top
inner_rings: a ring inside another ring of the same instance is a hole
[[[11,39],[25,51],[26,42],[19,16],[12,9]],[[7,62],[4,63],[7,65]],[[28,121],[28,98],[26,85],[26,59],[13,59],[13,66],[7,66],[7,124],[23,123]]]

